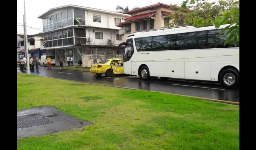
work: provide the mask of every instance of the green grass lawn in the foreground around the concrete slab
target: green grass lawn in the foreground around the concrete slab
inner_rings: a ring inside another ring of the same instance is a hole
[[[237,105],[17,73],[17,110],[39,106],[94,125],[17,139],[17,149],[239,149]]]

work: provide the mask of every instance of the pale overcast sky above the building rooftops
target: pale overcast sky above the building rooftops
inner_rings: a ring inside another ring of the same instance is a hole
[[[45,11],[59,7],[63,5],[73,4],[79,5],[84,7],[92,7],[98,8],[103,10],[110,10],[116,11],[116,6],[121,5],[123,7],[129,6],[132,8],[134,6],[145,7],[148,5],[156,4],[160,0],[147,0],[147,1],[139,1],[139,0],[128,0],[128,1],[121,1],[121,0],[95,0],[95,1],[85,1],[85,0],[25,0],[26,4],[26,17],[27,17],[27,26],[36,28],[32,29],[27,27],[28,35],[37,34],[42,32],[37,29],[42,30],[42,19],[37,19],[37,16],[41,15]],[[161,3],[164,4],[177,4],[180,6],[183,0],[161,0]],[[23,0],[17,0],[17,32],[23,33],[23,27],[20,26],[21,23],[23,24],[23,14],[24,14],[24,7],[23,7]]]

